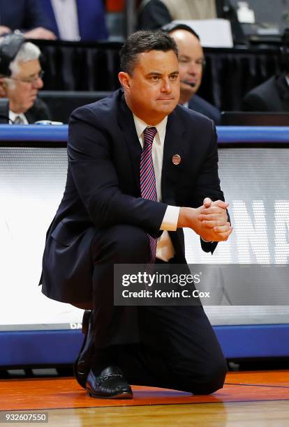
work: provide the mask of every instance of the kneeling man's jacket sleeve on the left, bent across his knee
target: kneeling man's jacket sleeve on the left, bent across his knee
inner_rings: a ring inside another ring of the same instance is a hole
[[[68,167],[89,218],[96,227],[129,224],[153,237],[168,205],[121,193],[112,160],[112,134],[87,106],[71,115],[68,130]]]

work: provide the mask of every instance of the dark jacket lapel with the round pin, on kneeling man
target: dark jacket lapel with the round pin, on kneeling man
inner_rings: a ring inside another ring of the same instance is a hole
[[[178,108],[178,107],[177,107]],[[168,204],[175,204],[176,186],[179,175],[183,170],[186,142],[183,138],[184,127],[177,109],[168,116],[167,128],[165,130],[165,144],[163,147],[163,169],[161,174],[161,194],[162,201]],[[181,162],[179,165],[172,163],[172,157],[179,154]]]

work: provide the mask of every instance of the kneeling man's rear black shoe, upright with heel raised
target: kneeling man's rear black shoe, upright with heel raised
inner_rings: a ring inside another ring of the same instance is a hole
[[[91,367],[91,360],[94,353],[94,328],[93,315],[91,310],[85,310],[82,319],[82,334],[84,334],[83,344],[80,354],[73,366],[73,372],[78,384],[84,389],[87,375]]]

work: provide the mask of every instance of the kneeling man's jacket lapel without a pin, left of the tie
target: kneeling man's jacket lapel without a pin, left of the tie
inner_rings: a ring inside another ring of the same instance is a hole
[[[121,133],[124,136],[124,140],[126,141],[126,145],[128,147],[129,156],[131,158],[135,185],[138,188],[138,193],[140,193],[140,156],[142,154],[142,147],[135,130],[133,113],[126,104],[124,94],[121,97],[117,114],[119,127],[121,128]]]

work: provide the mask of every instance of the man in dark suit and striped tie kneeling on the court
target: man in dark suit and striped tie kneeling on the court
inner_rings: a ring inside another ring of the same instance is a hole
[[[92,308],[75,362],[90,396],[132,398],[129,384],[210,394],[223,387],[226,364],[202,306],[114,306],[113,287],[114,264],[186,265],[183,227],[211,253],[230,236],[214,123],[178,105],[168,34],[129,36],[119,81],[122,89],[71,115],[43,293]]]

